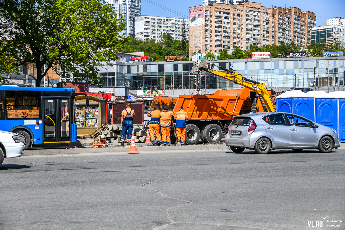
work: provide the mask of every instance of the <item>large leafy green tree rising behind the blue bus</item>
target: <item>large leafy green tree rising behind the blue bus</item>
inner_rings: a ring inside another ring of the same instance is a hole
[[[117,33],[126,28],[99,0],[0,0],[0,15],[13,22],[0,30],[6,52],[20,64],[35,63],[36,87],[50,69],[67,69],[66,80],[100,86],[97,66],[117,59],[123,39]]]

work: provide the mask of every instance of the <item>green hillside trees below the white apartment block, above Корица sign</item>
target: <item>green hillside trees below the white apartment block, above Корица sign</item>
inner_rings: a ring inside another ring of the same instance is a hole
[[[174,40],[170,34],[163,34],[161,41],[146,38],[144,41],[128,36],[119,52],[144,52],[150,61],[165,61],[165,56],[182,56],[182,41]],[[189,43],[186,43],[186,59],[189,60]]]

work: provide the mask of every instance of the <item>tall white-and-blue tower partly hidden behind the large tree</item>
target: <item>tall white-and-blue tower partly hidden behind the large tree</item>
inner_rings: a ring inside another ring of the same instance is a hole
[[[127,28],[124,31],[119,32],[120,35],[135,37],[134,30],[134,18],[140,16],[141,0],[106,0],[111,4],[112,9],[120,15],[122,15],[126,22]]]

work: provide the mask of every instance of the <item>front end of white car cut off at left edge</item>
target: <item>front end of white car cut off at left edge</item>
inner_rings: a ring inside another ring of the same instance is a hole
[[[0,166],[4,158],[23,156],[24,143],[17,133],[0,131]]]

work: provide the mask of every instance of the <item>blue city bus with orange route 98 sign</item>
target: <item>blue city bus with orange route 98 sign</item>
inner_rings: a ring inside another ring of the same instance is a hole
[[[72,88],[0,86],[0,130],[18,133],[25,148],[32,144],[77,141]]]

